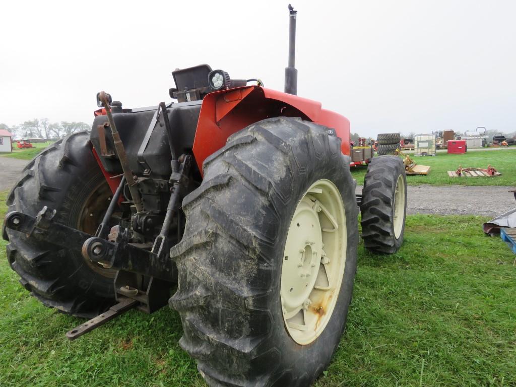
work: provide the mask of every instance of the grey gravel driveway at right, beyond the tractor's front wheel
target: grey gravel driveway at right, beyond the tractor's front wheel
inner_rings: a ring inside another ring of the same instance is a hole
[[[506,186],[451,185],[407,187],[407,214],[485,215],[495,217],[516,207]],[[362,186],[357,187],[357,193]]]

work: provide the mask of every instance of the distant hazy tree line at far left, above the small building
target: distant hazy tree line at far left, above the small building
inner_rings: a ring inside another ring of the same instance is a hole
[[[35,118],[14,126],[0,123],[0,129],[9,131],[14,138],[37,137],[57,140],[75,132],[90,130],[91,125],[86,122],[50,122],[47,118]]]

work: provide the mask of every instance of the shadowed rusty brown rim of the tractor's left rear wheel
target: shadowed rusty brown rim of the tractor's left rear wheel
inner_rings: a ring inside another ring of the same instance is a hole
[[[91,191],[85,200],[77,220],[77,230],[83,231],[90,235],[95,235],[96,229],[99,227],[104,213],[109,205],[109,201],[113,194],[106,182],[102,182]],[[98,263],[91,262],[84,258],[84,261],[94,272],[107,278],[115,278],[117,270],[107,269]]]

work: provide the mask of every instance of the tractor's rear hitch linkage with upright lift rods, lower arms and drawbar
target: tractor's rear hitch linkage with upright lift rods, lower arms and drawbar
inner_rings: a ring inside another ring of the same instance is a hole
[[[124,178],[112,197],[95,236],[55,222],[56,210],[46,206],[36,217],[15,211],[5,216],[5,228],[23,232],[27,237],[45,240],[68,250],[82,251],[86,259],[118,270],[115,277],[118,303],[107,312],[70,330],[67,333],[70,340],[133,308],[152,313],[168,303],[170,288],[177,276],[175,264],[169,258],[169,231],[174,213],[179,207],[181,189],[188,181],[191,156],[182,155],[179,162],[179,168],[172,171],[169,180],[172,187],[165,220],[150,251],[142,248],[147,245],[130,243],[127,230],[119,233],[115,242],[106,240],[109,218],[120,198],[125,184]]]

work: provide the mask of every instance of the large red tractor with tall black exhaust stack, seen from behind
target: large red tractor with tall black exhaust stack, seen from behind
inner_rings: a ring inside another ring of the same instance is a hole
[[[90,132],[25,168],[3,236],[22,285],[90,318],[170,305],[181,347],[211,386],[308,386],[344,331],[365,247],[393,253],[406,177],[374,157],[362,195],[349,121],[296,96],[296,11],[285,92],[207,65],[172,72],[177,102],[125,108],[98,94]]]

